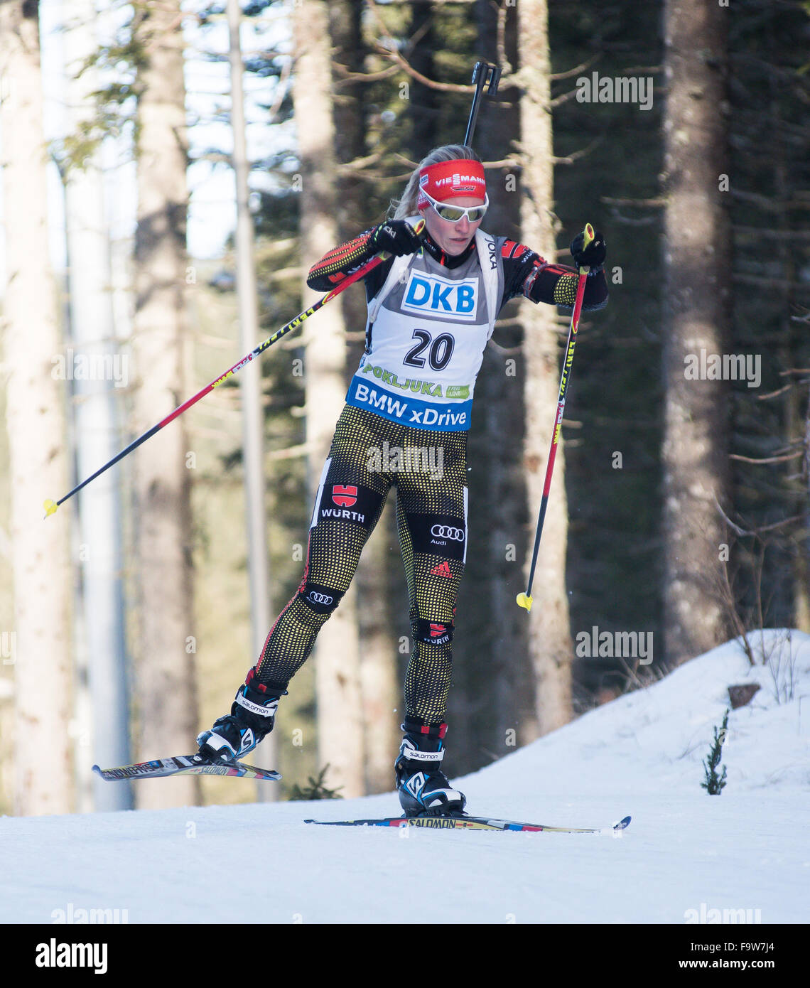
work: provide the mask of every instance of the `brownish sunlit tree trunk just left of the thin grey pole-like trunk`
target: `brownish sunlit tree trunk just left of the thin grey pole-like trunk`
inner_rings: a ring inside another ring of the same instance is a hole
[[[143,46],[138,102],[138,213],[135,234],[135,432],[145,431],[187,397],[187,138],[179,0],[141,9]],[[140,615],[137,702],[140,755],[155,758],[194,747],[190,473],[182,420],[135,453]],[[141,782],[140,807],[197,801],[191,777]]]

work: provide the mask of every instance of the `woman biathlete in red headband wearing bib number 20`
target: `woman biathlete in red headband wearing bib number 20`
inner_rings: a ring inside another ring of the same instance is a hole
[[[202,755],[235,761],[273,729],[280,698],[349,589],[395,486],[413,637],[404,738],[394,765],[399,799],[408,816],[463,810],[465,797],[450,787],[442,760],[455,598],[466,558],[466,438],[475,378],[510,298],[523,294],[573,308],[578,281],[571,268],[480,230],[488,203],[475,152],[459,144],[437,148],[414,171],[393,219],[336,247],[309,272],[307,285],[328,291],[374,255],[393,255],[364,280],[364,356],[321,473],[303,579],[230,713],[199,735]],[[413,229],[420,216],[422,236]],[[571,251],[578,267],[590,267],[583,308],[602,308],[602,234],[586,249],[580,234]],[[391,465],[375,451],[395,448],[408,469],[373,468]],[[416,454],[425,450],[437,452],[433,468],[424,453]]]

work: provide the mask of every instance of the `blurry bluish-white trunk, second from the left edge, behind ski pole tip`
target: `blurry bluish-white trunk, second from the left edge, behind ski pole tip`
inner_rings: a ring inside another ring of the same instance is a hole
[[[92,113],[92,93],[101,86],[92,67],[76,78],[99,46],[93,0],[65,5],[66,92],[69,94],[67,133],[78,133]],[[117,400],[128,384],[121,361],[113,311],[110,241],[104,201],[101,149],[88,154],[82,167],[64,176],[67,230],[70,343],[77,359],[107,362],[105,370],[120,378],[75,380],[73,415],[76,462],[80,477],[88,477],[122,449]],[[129,758],[129,707],[126,690],[126,647],[122,588],[121,473],[111,470],[78,495],[82,545],[82,640],[92,708],[93,762],[125,765]],[[78,649],[77,649],[78,650]],[[81,681],[81,680],[80,680]],[[77,711],[78,712],[78,711]],[[80,730],[84,725],[80,724]],[[96,810],[129,809],[131,785],[109,785],[91,773],[93,762],[81,751],[77,775],[92,775]],[[85,780],[82,779],[84,783]],[[89,782],[89,780],[88,780]]]

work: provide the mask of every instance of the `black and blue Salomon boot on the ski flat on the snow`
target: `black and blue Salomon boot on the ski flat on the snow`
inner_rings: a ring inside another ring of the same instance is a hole
[[[450,816],[463,812],[466,796],[453,789],[441,770],[447,725],[425,727],[406,720],[394,762],[399,803],[405,816]]]

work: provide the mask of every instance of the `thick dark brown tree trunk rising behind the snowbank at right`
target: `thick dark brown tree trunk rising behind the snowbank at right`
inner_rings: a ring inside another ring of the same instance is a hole
[[[710,588],[723,541],[715,499],[726,491],[726,384],[687,379],[686,359],[722,354],[728,324],[730,238],[719,191],[728,181],[728,16],[703,0],[665,6],[664,651],[673,665],[722,634]]]

